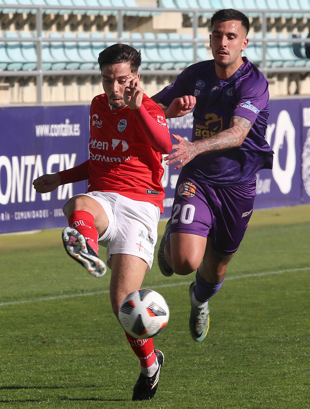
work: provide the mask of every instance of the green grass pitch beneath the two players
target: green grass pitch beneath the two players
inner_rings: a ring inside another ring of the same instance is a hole
[[[254,212],[203,342],[188,329],[195,273],[166,278],[155,258],[143,285],[163,294],[170,321],[154,338],[165,364],[150,402],[131,401],[139,364],[109,271],[88,274],[60,232],[0,236],[0,408],[310,408],[310,206]]]

